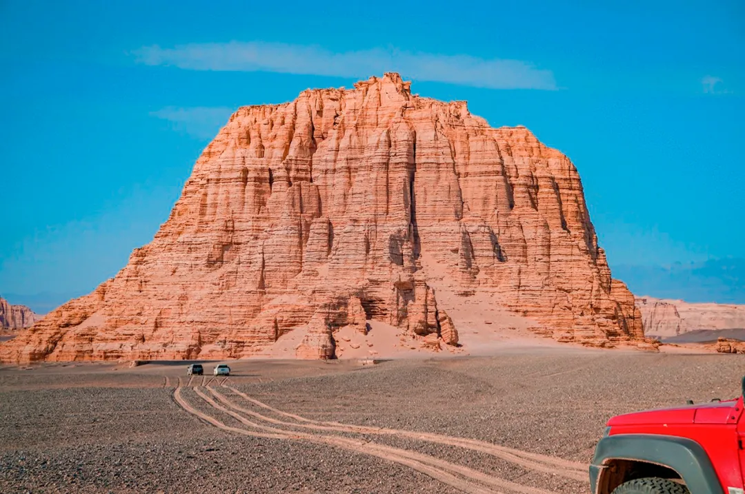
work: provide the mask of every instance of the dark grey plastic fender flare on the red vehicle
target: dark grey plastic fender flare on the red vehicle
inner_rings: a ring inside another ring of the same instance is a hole
[[[694,440],[655,434],[617,434],[606,436],[597,443],[595,458],[590,466],[592,493],[603,467],[612,460],[630,460],[667,466],[678,472],[688,490],[696,494],[723,494],[717,472],[706,451]]]

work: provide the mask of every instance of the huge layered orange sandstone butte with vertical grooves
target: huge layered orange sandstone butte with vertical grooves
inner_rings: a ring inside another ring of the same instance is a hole
[[[388,73],[238,109],[153,241],[0,359],[238,358],[288,333],[297,357],[327,359],[366,321],[448,348],[434,278],[560,341],[644,338],[574,164]]]

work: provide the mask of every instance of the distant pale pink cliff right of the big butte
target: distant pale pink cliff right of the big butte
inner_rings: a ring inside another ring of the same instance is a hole
[[[745,329],[745,305],[689,304],[651,297],[636,299],[644,334],[670,338],[697,330]]]

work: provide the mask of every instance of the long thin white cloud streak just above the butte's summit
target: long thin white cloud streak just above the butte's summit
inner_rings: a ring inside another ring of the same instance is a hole
[[[192,43],[175,48],[146,46],[137,62],[199,71],[269,71],[359,77],[398,71],[414,80],[489,89],[557,89],[553,72],[521,60],[481,59],[374,48],[333,53],[315,46],[283,43]]]

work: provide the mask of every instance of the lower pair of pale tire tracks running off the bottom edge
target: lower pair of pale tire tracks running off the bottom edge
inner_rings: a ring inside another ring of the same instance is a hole
[[[215,400],[212,400],[211,397],[207,396],[203,391],[201,391],[200,388],[195,387],[194,391],[197,396],[202,398],[202,400],[212,406],[212,408],[215,408],[216,410],[221,411],[225,414],[229,414],[231,417],[234,417],[245,426],[249,426],[253,429],[258,429],[260,431],[259,434],[261,434],[260,437],[269,437],[267,434],[276,434],[278,436],[282,436],[282,438],[285,439],[306,440],[312,443],[321,443],[354,452],[364,453],[366,455],[373,455],[377,458],[409,466],[410,468],[415,469],[418,472],[429,475],[430,477],[442,481],[450,485],[451,487],[455,487],[457,490],[461,490],[469,494],[550,494],[547,490],[542,490],[536,487],[527,487],[522,484],[516,484],[503,478],[487,475],[484,472],[479,472],[478,470],[471,469],[467,466],[449,463],[448,461],[440,460],[440,458],[435,458],[430,455],[425,455],[407,449],[398,449],[394,448],[393,446],[385,446],[364,440],[355,440],[349,437],[308,434],[306,432],[291,432],[285,429],[276,429],[270,426],[262,426],[261,424],[248,420],[241,414],[238,414],[235,411],[231,411],[228,408],[218,404],[218,402],[215,402]],[[180,398],[181,400],[183,400],[182,397]],[[223,397],[223,399],[226,402],[229,402],[226,397]],[[180,402],[178,399],[177,402],[179,402],[180,405],[183,406],[182,402]],[[226,403],[226,405],[228,405],[228,403]],[[239,410],[241,410],[241,408],[237,405],[228,406],[229,408],[238,408]],[[191,410],[187,409],[187,411]],[[200,418],[207,417],[206,414],[200,414],[197,416],[199,416]],[[209,423],[218,426],[219,420],[215,419],[214,417],[209,418],[212,419],[208,420]],[[221,429],[229,427],[223,423],[220,424],[221,426],[218,427],[221,427]],[[242,432],[241,434],[245,433],[246,432]],[[253,434],[253,432],[248,432],[248,434],[251,435]]]

